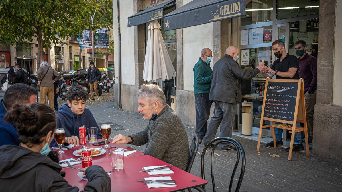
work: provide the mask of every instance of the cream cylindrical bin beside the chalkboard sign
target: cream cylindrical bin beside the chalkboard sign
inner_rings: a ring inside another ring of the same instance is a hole
[[[253,121],[253,102],[244,101],[242,102],[242,135],[252,135],[252,121]]]

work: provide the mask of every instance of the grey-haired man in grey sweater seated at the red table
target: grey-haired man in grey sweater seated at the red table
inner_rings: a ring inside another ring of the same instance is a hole
[[[163,91],[157,85],[142,85],[138,94],[138,111],[149,120],[139,133],[116,135],[112,143],[146,144],[145,154],[185,170],[189,162],[189,143],[178,114],[166,104]]]

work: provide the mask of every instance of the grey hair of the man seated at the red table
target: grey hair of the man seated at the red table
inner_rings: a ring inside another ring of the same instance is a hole
[[[154,101],[158,101],[159,105],[164,106],[166,105],[166,98],[164,95],[163,90],[158,85],[153,85],[153,84],[144,84],[141,85],[140,90],[136,94],[136,96],[141,99],[145,99],[149,105],[150,108],[153,106]]]

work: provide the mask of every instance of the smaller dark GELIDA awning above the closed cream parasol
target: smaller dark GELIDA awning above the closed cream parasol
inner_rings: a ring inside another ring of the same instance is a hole
[[[148,23],[153,20],[161,19],[164,16],[164,7],[168,4],[174,3],[176,0],[162,1],[159,4],[148,7],[130,17],[128,17],[127,26],[132,27],[143,23]]]

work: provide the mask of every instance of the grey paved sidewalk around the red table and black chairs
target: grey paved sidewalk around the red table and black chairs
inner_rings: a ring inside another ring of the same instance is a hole
[[[106,93],[107,94],[107,93]],[[110,94],[110,93],[108,93]],[[104,96],[105,97],[105,96]],[[105,100],[105,99],[104,99]],[[119,110],[111,101],[87,101],[98,124],[111,124],[111,137],[117,134],[129,135],[141,131],[148,121],[137,112]],[[92,103],[91,103],[92,102]],[[189,144],[194,137],[193,126],[184,125]],[[220,136],[217,134],[216,136]],[[245,176],[240,191],[342,191],[342,162],[304,152],[295,152],[292,161],[288,161],[288,152],[284,148],[274,149],[261,146],[256,152],[257,141],[233,136],[246,153]],[[144,151],[145,146],[131,146]],[[205,179],[207,191],[212,191],[210,174],[211,148],[205,156]],[[191,173],[201,177],[200,157],[203,147],[198,149]],[[271,157],[270,155],[279,155]],[[216,191],[228,191],[232,169],[236,161],[236,152],[215,150],[214,178]],[[232,190],[235,191],[239,167],[234,177]]]

